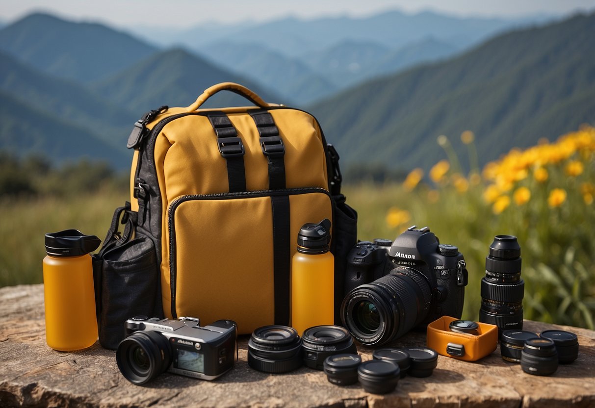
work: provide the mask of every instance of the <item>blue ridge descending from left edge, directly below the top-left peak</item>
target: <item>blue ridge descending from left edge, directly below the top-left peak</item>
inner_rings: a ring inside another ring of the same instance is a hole
[[[137,114],[112,105],[85,87],[49,76],[0,52],[0,90],[31,108],[80,127],[101,129],[105,142],[120,147]],[[7,99],[0,104],[4,110]]]

